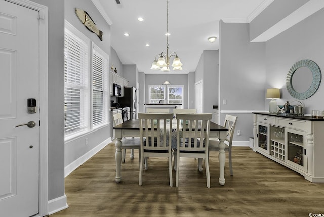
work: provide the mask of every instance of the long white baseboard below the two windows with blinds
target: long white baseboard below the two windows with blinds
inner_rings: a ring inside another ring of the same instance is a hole
[[[108,143],[111,142],[111,138],[109,137],[99,145],[97,145],[95,148],[91,149],[88,151],[86,154],[83,156],[79,157],[78,159],[74,160],[72,163],[69,165],[65,166],[64,168],[64,177],[67,177],[71,172],[73,172],[77,167],[82,165],[84,162],[89,160],[92,156],[97,154],[101,149],[103,149]]]

